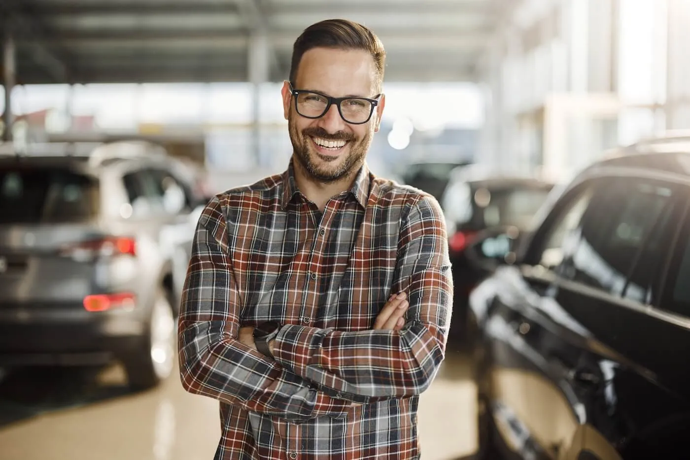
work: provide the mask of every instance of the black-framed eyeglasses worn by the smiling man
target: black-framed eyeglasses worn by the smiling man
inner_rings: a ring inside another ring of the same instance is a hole
[[[340,117],[353,125],[362,125],[371,119],[374,109],[379,105],[377,94],[373,99],[367,97],[331,97],[321,92],[295,90],[290,83],[290,93],[295,99],[295,110],[304,118],[321,118],[335,104]]]

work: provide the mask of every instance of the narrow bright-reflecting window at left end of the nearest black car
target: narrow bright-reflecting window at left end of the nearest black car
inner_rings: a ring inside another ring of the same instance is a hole
[[[591,202],[591,186],[583,186],[571,194],[565,207],[559,211],[544,235],[542,246],[537,257],[538,265],[555,270],[572,252],[579,238],[579,226],[582,214]]]

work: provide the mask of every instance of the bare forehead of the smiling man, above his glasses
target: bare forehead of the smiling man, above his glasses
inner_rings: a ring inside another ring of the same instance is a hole
[[[364,50],[312,48],[297,68],[295,86],[331,96],[371,96],[376,86],[376,66]]]

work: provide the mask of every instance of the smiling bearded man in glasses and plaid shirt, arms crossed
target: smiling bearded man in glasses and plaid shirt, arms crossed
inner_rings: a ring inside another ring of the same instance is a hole
[[[304,30],[282,89],[288,170],[199,219],[179,360],[184,388],[220,401],[216,459],[420,457],[453,295],[437,202],[364,162],[384,61],[357,23]]]

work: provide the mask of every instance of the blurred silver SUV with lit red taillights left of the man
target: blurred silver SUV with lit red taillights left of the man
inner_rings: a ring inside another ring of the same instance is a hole
[[[205,201],[152,144],[33,148],[0,158],[0,366],[118,359],[154,386]]]

